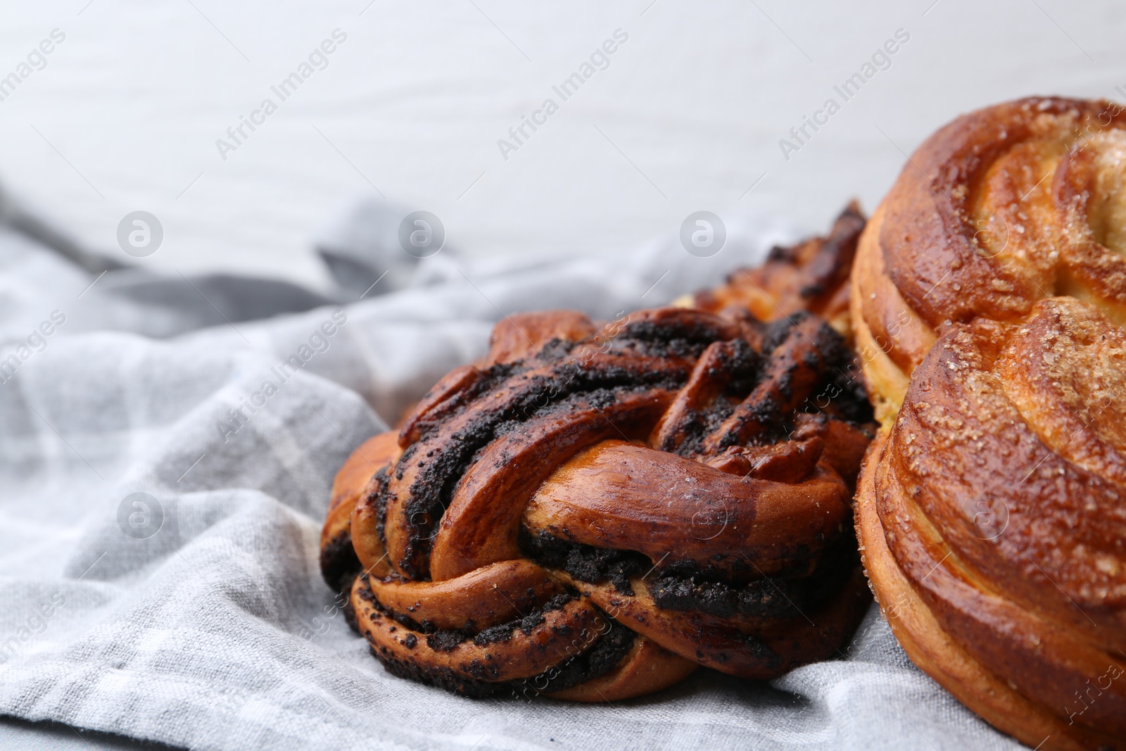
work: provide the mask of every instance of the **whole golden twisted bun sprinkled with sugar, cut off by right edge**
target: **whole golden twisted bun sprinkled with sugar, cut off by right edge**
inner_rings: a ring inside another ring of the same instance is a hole
[[[1124,180],[1117,105],[966,115],[852,271],[872,588],[915,664],[1039,749],[1126,749]]]

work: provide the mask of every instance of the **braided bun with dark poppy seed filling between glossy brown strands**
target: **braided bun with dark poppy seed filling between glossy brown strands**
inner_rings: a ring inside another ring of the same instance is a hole
[[[850,501],[875,423],[844,339],[784,304],[499,324],[337,476],[322,572],[373,654],[574,701],[835,655],[870,604]]]

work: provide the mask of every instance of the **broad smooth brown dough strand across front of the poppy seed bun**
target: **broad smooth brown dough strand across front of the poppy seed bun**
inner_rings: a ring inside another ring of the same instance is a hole
[[[611,439],[555,470],[524,504],[522,522],[535,534],[652,561],[674,551],[697,567],[734,573],[751,558],[762,574],[776,574],[794,566],[796,545],[815,560],[835,539],[850,519],[850,494],[824,465],[758,480]]]

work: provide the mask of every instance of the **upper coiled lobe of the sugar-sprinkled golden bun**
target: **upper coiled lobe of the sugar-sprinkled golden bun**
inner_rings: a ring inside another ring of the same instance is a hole
[[[1121,107],[1051,97],[959,117],[912,154],[852,274],[854,327],[873,347],[866,372],[885,418],[949,323],[1015,320],[1057,295],[1126,321],[1124,159]]]

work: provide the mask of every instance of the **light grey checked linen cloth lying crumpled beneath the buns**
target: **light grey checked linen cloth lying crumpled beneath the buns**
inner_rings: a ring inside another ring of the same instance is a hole
[[[318,570],[354,447],[482,355],[502,314],[609,319],[792,235],[745,220],[708,259],[673,235],[404,270],[386,243],[366,261],[341,249],[381,211],[321,248],[349,276],[396,267],[397,290],[359,301],[347,281],[333,299],[113,263],[96,280],[0,226],[0,361],[18,366],[0,366],[0,715],[191,749],[1020,748],[917,670],[875,605],[839,660],[769,683],[699,670],[611,706],[472,700],[386,673]]]

